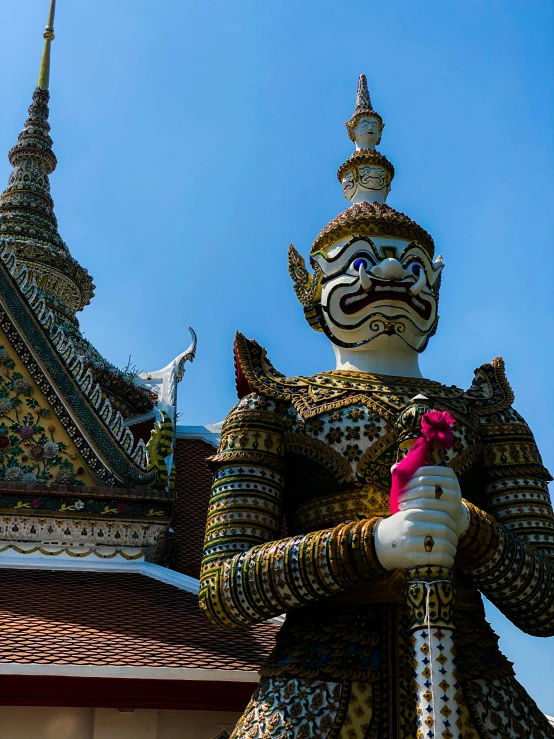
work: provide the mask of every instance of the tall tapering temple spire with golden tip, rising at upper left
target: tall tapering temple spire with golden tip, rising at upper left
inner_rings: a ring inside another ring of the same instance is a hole
[[[17,257],[44,292],[48,307],[75,322],[75,313],[90,302],[94,285],[73,259],[58,233],[48,176],[56,168],[48,101],[50,46],[54,39],[56,2],[51,0],[44,51],[29,117],[8,154],[13,171],[0,198],[0,238],[8,239]]]

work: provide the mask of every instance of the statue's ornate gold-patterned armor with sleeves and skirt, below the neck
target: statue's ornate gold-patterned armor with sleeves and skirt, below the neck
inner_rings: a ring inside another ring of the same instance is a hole
[[[456,418],[444,462],[471,513],[456,560],[451,721],[467,739],[551,736],[480,596],[527,633],[554,634],[551,477],[512,408],[502,360],[463,391],[344,371],[286,378],[241,335],[237,357],[243,397],[211,458],[200,603],[227,628],[287,618],[233,737],[416,736],[403,576],[383,570],[371,536],[389,515],[395,422],[418,393]]]

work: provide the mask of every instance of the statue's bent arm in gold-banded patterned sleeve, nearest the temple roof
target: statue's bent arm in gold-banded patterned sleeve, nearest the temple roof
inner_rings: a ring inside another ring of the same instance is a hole
[[[229,414],[210,497],[200,606],[233,628],[314,603],[384,574],[376,519],[279,540],[283,519],[283,412],[261,396]]]

